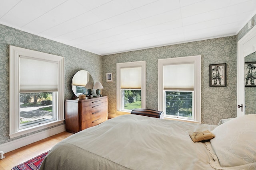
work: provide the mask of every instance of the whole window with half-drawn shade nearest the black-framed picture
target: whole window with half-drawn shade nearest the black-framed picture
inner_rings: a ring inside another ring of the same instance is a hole
[[[201,121],[201,56],[158,60],[158,109],[165,117]]]

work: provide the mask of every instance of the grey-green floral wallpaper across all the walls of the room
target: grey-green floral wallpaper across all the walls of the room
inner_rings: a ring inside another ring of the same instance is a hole
[[[253,19],[256,20],[256,15]],[[157,109],[158,59],[202,55],[201,121],[216,125],[220,119],[236,117],[237,41],[248,31],[247,25],[245,25],[236,36],[102,57],[0,24],[0,144],[20,138],[9,139],[8,135],[9,45],[65,57],[65,99],[73,96],[71,80],[74,74],[78,70],[87,70],[92,75],[94,82],[102,82],[104,87],[102,94],[108,96],[108,111],[113,114],[118,114],[116,111],[116,63],[146,61],[146,107]],[[219,63],[226,63],[227,86],[210,87],[209,64]],[[113,82],[106,82],[107,72],[113,73]],[[255,99],[253,100],[255,101]],[[40,131],[44,130],[46,129]]]

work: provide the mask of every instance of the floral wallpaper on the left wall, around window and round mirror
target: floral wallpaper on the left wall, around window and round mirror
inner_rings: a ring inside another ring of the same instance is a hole
[[[90,72],[94,82],[102,80],[102,56],[0,24],[0,144],[20,138],[9,139],[8,135],[9,45],[65,57],[65,99],[73,96],[71,81],[78,70]]]

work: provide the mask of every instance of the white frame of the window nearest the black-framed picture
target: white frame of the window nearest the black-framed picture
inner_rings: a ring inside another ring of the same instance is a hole
[[[164,77],[163,77],[163,67],[164,65],[170,64],[186,64],[194,63],[194,120],[174,118],[166,115],[164,117],[169,117],[172,119],[195,121],[201,123],[201,55],[188,56],[188,57],[175,57],[169,59],[158,59],[158,110],[165,110],[165,90],[164,90]]]

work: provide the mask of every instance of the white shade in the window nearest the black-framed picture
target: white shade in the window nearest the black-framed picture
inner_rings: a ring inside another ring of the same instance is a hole
[[[164,90],[194,90],[194,63],[164,65]]]

